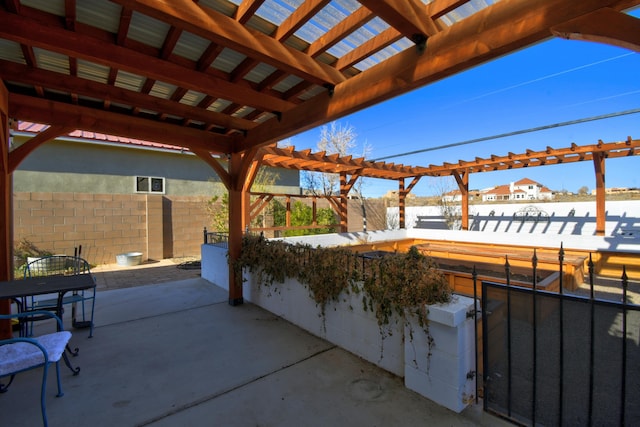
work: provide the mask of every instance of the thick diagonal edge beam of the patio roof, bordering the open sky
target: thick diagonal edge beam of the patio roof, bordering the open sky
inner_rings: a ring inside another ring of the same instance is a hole
[[[602,7],[628,1],[504,0],[429,38],[427,49],[407,49],[251,130],[237,147],[267,145],[451,76],[550,37],[550,28]],[[518,25],[514,25],[517,20]]]

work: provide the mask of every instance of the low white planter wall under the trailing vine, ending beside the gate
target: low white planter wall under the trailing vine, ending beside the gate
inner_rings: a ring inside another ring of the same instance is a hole
[[[202,277],[228,289],[226,249],[203,245]],[[411,316],[397,318],[381,331],[375,314],[363,310],[361,294],[342,294],[327,305],[323,317],[297,280],[265,286],[253,274],[245,272],[244,277],[246,301],[404,377],[407,388],[456,412],[473,400],[475,379],[467,378],[475,369],[473,320],[467,318],[472,298],[455,296],[451,304],[429,307],[429,349],[426,333]]]

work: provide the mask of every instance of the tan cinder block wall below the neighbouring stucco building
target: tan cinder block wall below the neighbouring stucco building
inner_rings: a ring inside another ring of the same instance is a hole
[[[14,193],[14,241],[92,264],[139,251],[143,259],[200,257],[205,198],[88,193]]]

